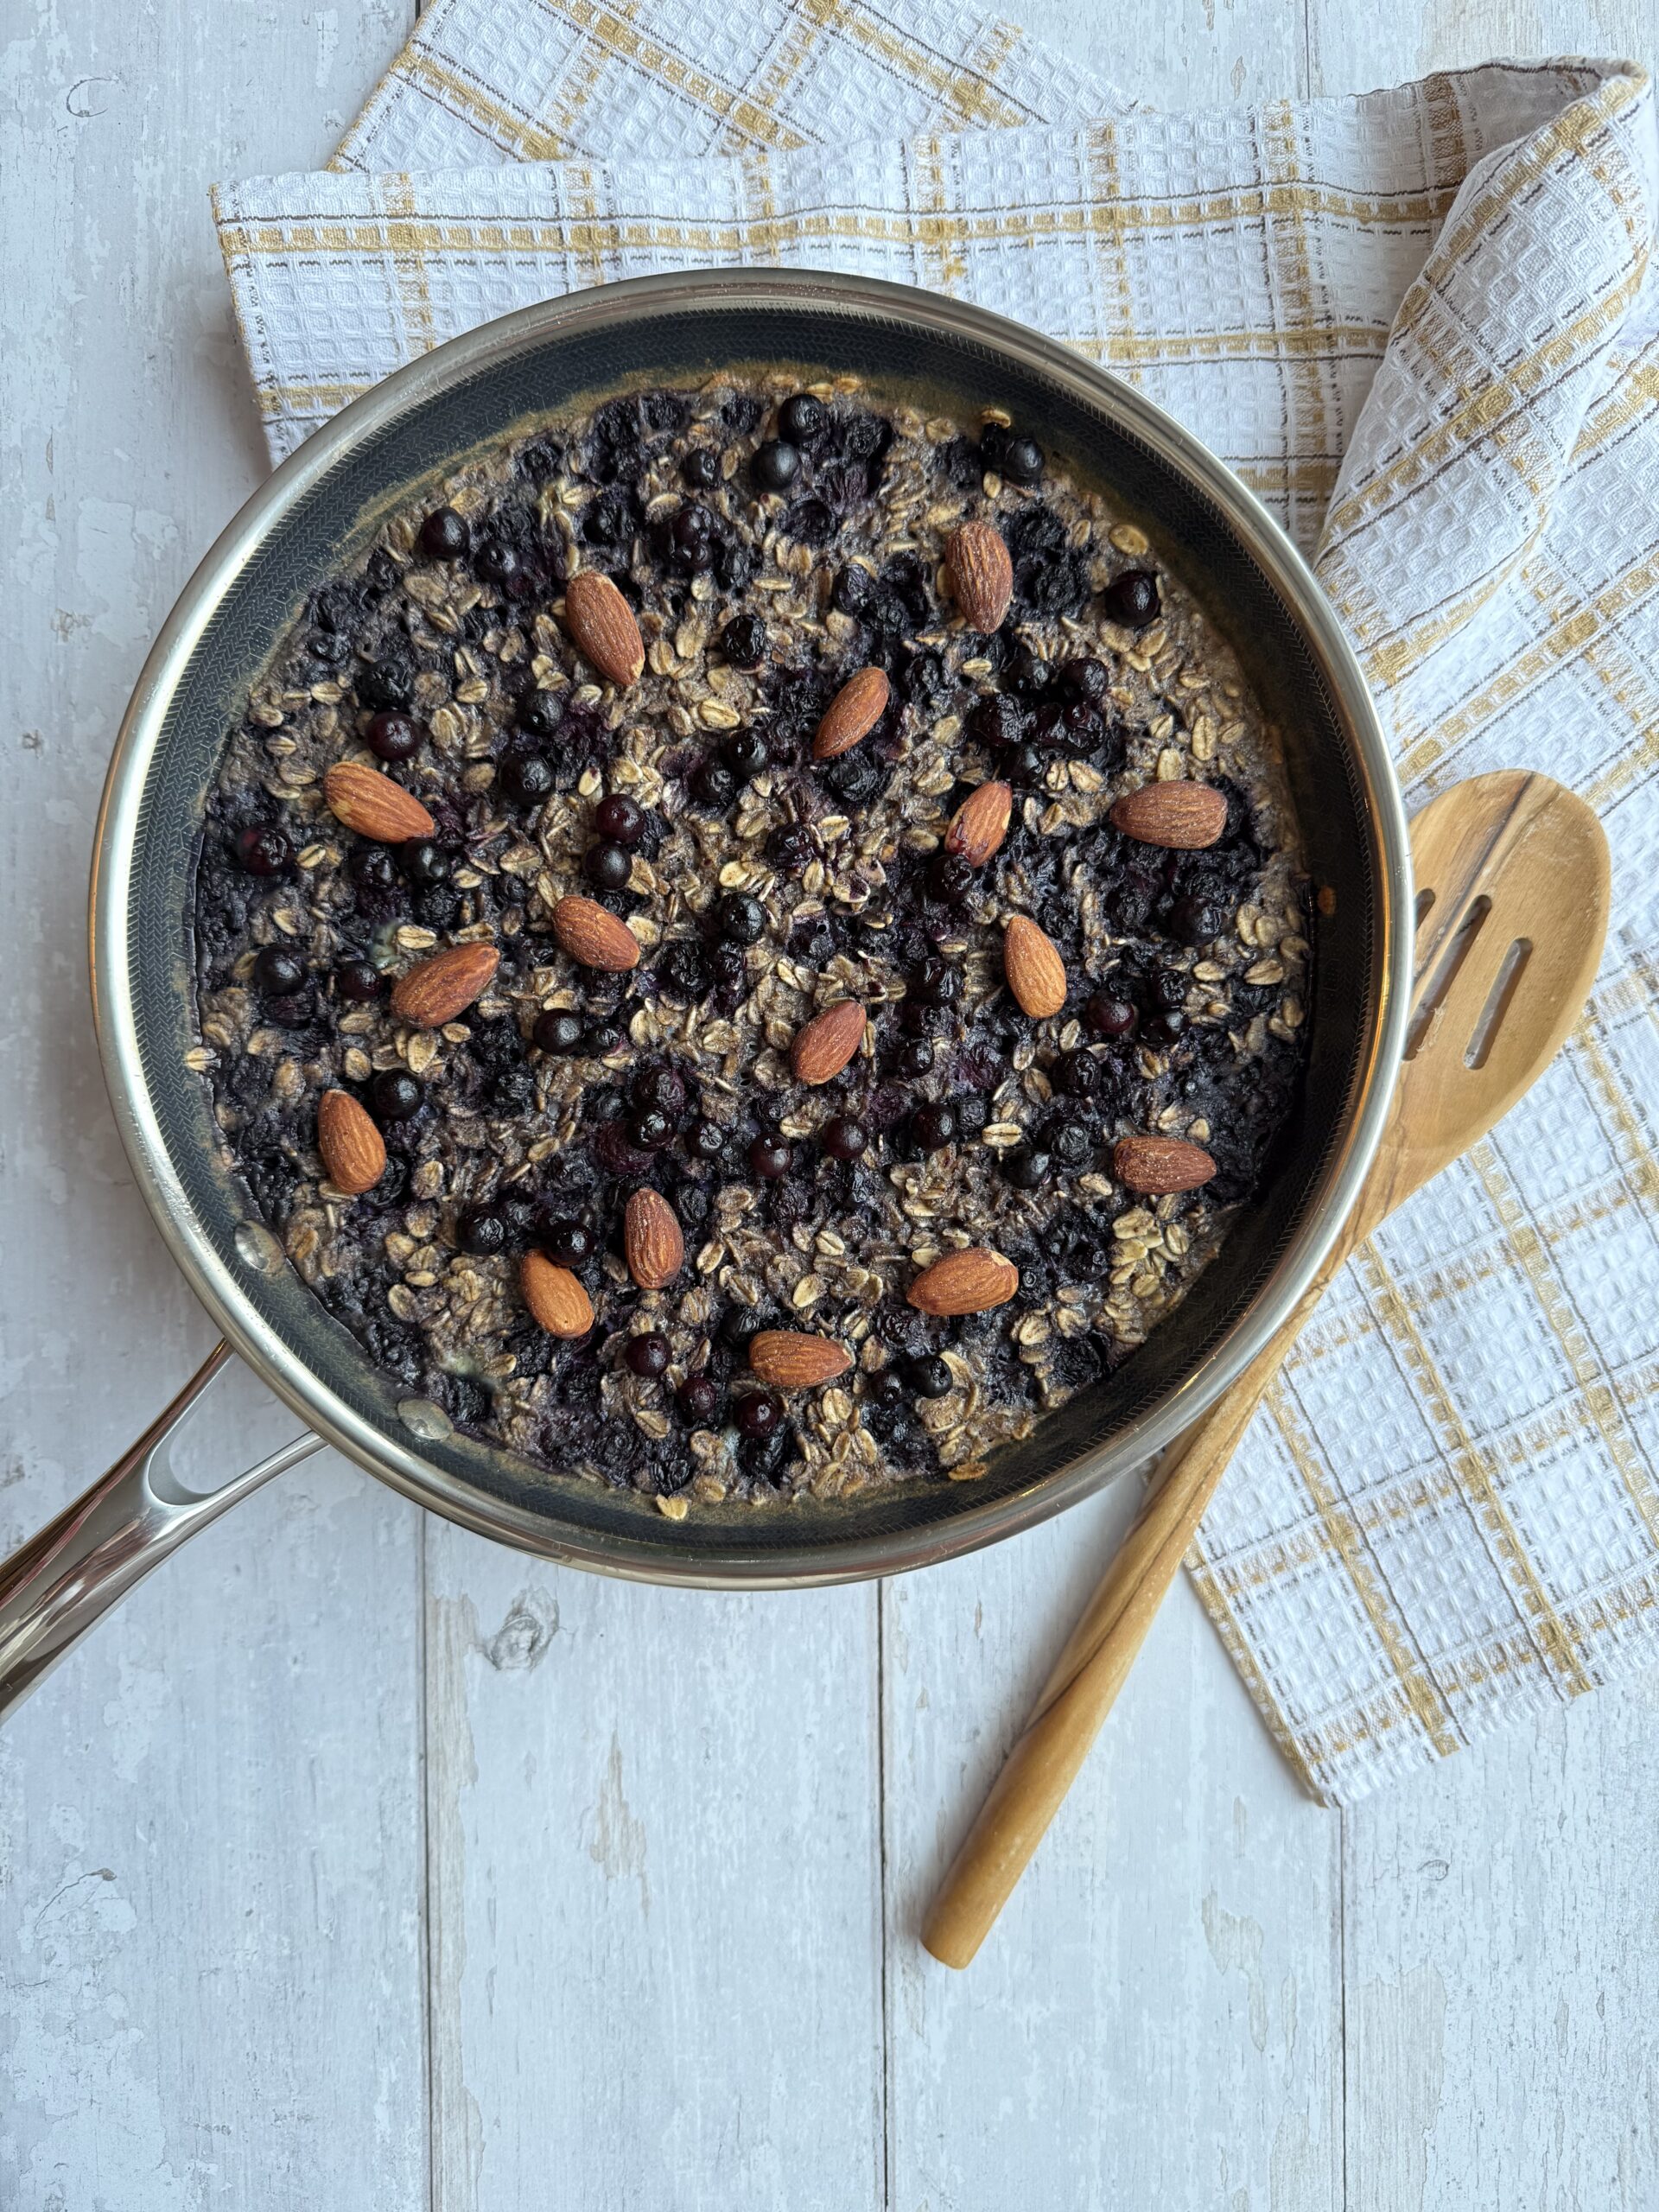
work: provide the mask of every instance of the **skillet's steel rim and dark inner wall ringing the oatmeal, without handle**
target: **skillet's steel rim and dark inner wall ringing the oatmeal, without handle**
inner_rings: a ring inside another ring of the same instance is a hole
[[[757,283],[752,296],[668,296],[613,321],[562,316],[555,305],[513,319],[502,343],[469,349],[458,341],[445,349],[458,356],[453,374],[434,356],[420,365],[411,400],[383,407],[361,436],[334,440],[321,469],[296,469],[305,451],[288,465],[274,489],[281,493],[288,476],[292,495],[279,495],[239,557],[208,577],[206,622],[175,650],[166,684],[124,732],[124,752],[142,748],[139,787],[126,909],[115,927],[100,916],[108,940],[100,956],[115,960],[108,995],[122,998],[131,1018],[124,1029],[144,1102],[142,1115],[122,1119],[128,1141],[144,1124],[142,1181],[173,1214],[175,1250],[257,1365],[376,1473],[473,1526],[617,1573],[783,1582],[889,1571],[1006,1533],[1135,1464],[1157,1411],[1177,1391],[1190,1398],[1194,1378],[1237,1347],[1243,1316],[1316,1214],[1378,1066],[1391,953],[1376,759],[1365,759],[1365,726],[1338,697],[1292,593],[1270,573],[1272,549],[1263,553],[1259,531],[1252,544],[1223,498],[1141,434],[1144,420],[1110,380],[1064,361],[1048,365],[1040,345],[998,345],[989,319],[951,327],[949,314],[907,316],[894,305],[905,294],[891,288],[849,285],[847,294],[814,285],[770,296]],[[852,369],[885,389],[925,385],[967,420],[987,403],[1002,405],[1057,460],[1133,511],[1159,557],[1228,630],[1285,732],[1303,841],[1314,880],[1334,894],[1334,918],[1316,947],[1303,1097],[1272,1188],[1245,1208],[1186,1303],[1115,1378],[1048,1416],[973,1484],[909,1484],[772,1513],[699,1511],[675,1524],[653,1500],[549,1475],[458,1433],[431,1433],[442,1422],[407,1405],[400,1411],[396,1385],[288,1265],[272,1263],[272,1241],[254,1228],[252,1199],[228,1166],[208,1088],[184,1068],[195,1042],[184,918],[206,790],[248,686],[305,595],[352,560],[387,507],[526,416],[641,380],[695,380],[741,361]],[[102,1004],[100,1015],[108,1053],[111,1009]],[[113,1073],[117,1091],[133,1082],[126,1064]]]

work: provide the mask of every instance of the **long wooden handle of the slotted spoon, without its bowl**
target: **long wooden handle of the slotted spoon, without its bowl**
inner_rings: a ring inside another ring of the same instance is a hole
[[[1175,1582],[1239,1438],[1338,1267],[1369,1237],[1378,1212],[1360,1201],[1290,1321],[1228,1396],[1170,1447],[1157,1486],[1117,1548],[1088,1608],[1042,1686],[980,1818],[933,1898],[922,1942],[947,1966],[967,1966],[1009,1902],[1031,1854],[1077,1778],[1102,1721],[1135,1666],[1146,1630]]]

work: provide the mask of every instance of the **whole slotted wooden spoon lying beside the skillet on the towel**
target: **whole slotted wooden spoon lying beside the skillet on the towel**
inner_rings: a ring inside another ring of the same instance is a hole
[[[1170,1447],[956,1854],[922,1942],[967,1966],[1124,1688],[1250,1416],[1371,1230],[1515,1104],[1579,1018],[1608,925],[1595,814],[1548,776],[1475,776],[1411,823],[1418,878],[1407,1057],[1371,1175],[1301,1305],[1228,1396]]]

